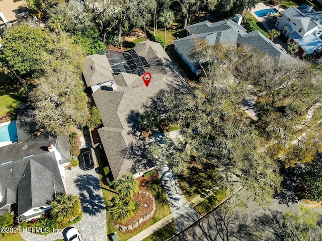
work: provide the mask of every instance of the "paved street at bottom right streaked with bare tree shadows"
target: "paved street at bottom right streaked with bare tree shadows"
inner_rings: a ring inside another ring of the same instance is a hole
[[[269,207],[264,210],[253,202],[247,201],[246,191],[242,193],[242,198],[249,206],[246,212],[241,211],[241,209],[235,209],[229,216],[225,215],[224,212],[213,211],[171,240],[248,240],[256,230],[265,226],[268,227],[272,217],[278,219],[286,210],[299,212],[301,207],[301,204],[297,202],[286,205],[285,203],[280,203],[278,199],[273,199]],[[318,215],[322,215],[322,207],[313,210]],[[184,235],[186,236],[185,238]]]

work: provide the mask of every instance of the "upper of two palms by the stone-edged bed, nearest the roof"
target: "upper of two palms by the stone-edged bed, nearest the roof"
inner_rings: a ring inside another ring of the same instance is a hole
[[[139,190],[139,182],[132,174],[121,175],[115,183],[115,190],[121,197],[130,197]]]

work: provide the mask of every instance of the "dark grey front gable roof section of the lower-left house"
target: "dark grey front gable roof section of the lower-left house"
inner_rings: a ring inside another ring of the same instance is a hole
[[[31,157],[18,183],[18,216],[65,193],[54,152]]]

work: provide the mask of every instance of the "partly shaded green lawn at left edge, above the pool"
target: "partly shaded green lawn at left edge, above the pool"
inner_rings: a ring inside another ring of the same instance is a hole
[[[0,116],[15,112],[21,103],[26,102],[21,83],[0,73]]]

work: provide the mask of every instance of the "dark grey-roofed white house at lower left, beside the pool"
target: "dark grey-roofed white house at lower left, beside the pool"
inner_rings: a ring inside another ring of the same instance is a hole
[[[66,192],[68,138],[50,136],[33,117],[30,106],[22,106],[16,122],[18,142],[0,147],[0,214],[17,207],[19,221],[43,214],[55,194]]]

